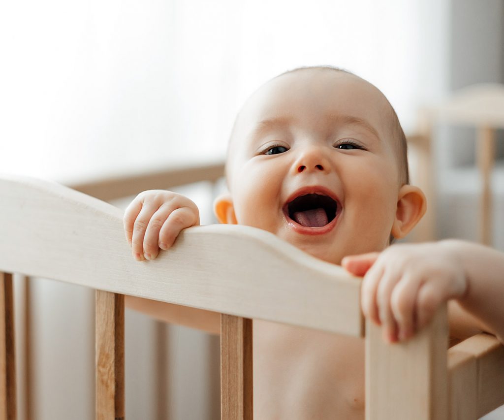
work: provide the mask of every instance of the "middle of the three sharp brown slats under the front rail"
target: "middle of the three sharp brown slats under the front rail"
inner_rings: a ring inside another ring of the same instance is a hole
[[[96,419],[124,419],[124,295],[96,290]]]

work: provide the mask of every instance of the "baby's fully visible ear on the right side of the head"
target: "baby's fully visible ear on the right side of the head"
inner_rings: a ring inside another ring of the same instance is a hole
[[[418,187],[403,185],[399,190],[392,236],[403,238],[415,227],[427,209],[425,195]]]

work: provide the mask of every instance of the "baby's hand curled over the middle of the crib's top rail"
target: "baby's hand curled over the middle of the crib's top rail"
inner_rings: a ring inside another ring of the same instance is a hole
[[[153,260],[159,249],[173,245],[182,229],[200,224],[200,212],[190,199],[164,190],[140,193],[124,212],[126,239],[137,261]]]

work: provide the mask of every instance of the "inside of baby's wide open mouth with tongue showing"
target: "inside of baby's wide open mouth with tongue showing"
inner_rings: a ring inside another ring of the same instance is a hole
[[[287,203],[284,211],[301,226],[324,227],[336,218],[338,202],[322,194],[305,194]]]

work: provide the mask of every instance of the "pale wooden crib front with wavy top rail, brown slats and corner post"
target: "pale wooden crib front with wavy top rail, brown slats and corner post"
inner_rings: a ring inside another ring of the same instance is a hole
[[[504,404],[504,347],[495,337],[480,334],[447,349],[442,308],[412,340],[388,345],[362,319],[360,279],[271,233],[194,227],[169,252],[138,263],[122,211],[110,204],[9,176],[0,177],[0,197],[0,420],[16,418],[12,273],[96,289],[98,419],[125,416],[124,294],[222,314],[225,419],[253,418],[253,319],[365,337],[367,419],[474,419]]]

